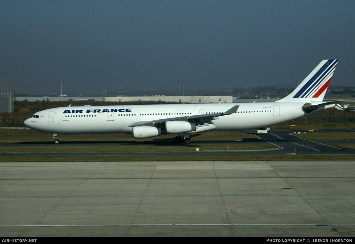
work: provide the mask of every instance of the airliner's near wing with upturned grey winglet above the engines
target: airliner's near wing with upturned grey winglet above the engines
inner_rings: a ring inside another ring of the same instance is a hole
[[[194,122],[194,123],[205,123],[208,121],[215,120],[216,117],[219,116],[225,116],[225,115],[230,115],[232,113],[236,113],[239,108],[239,105],[235,105],[231,107],[229,110],[223,112],[223,113],[209,113],[206,115],[191,115],[191,116],[181,116],[181,117],[171,117],[171,118],[164,118],[161,120],[150,120],[150,121],[136,121],[128,125],[128,127],[135,127],[135,126],[145,126],[148,124],[152,125],[159,125],[163,124],[166,121],[174,121],[174,120],[186,120],[188,122]]]

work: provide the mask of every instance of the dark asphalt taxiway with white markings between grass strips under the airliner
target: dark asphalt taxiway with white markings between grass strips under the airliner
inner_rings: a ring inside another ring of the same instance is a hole
[[[318,131],[355,131],[355,129],[324,129]],[[297,131],[303,133],[304,131]],[[353,155],[355,149],[341,149],[331,147],[326,144],[334,143],[355,143],[348,140],[329,140],[329,141],[312,141],[305,140],[296,136],[290,131],[272,131],[267,135],[256,135],[260,141],[193,141],[190,145],[196,147],[206,144],[273,144],[279,149],[276,150],[245,150],[245,151],[194,151],[194,152],[0,152],[0,156],[53,156],[53,155],[96,155],[96,156],[120,156],[120,155],[284,155],[284,154],[300,154],[300,155]],[[170,142],[153,141],[145,142],[146,144],[161,145]],[[0,147],[18,147],[18,146],[95,146],[95,145],[135,145],[135,142],[61,142],[54,145],[50,142],[26,142],[26,143],[1,143]]]

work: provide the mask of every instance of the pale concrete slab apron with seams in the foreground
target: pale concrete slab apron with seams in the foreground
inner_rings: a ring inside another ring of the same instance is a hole
[[[354,237],[355,161],[0,163],[2,237]]]

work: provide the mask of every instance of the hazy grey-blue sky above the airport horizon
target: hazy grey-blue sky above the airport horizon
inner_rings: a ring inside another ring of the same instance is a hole
[[[355,86],[355,2],[0,0],[0,79],[29,94],[295,84],[339,59]]]

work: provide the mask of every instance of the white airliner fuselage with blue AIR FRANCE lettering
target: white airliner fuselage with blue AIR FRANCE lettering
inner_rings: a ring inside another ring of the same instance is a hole
[[[24,124],[32,129],[58,134],[132,133],[130,124],[172,117],[223,113],[239,105],[236,113],[215,117],[211,131],[256,129],[305,116],[304,102],[255,102],[228,104],[168,104],[58,107],[42,110]],[[318,108],[313,112],[333,107]],[[312,113],[313,113],[312,112]],[[205,130],[205,131],[207,131]],[[193,133],[193,132],[189,132]]]

